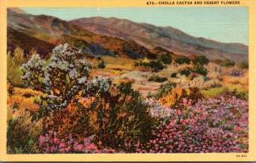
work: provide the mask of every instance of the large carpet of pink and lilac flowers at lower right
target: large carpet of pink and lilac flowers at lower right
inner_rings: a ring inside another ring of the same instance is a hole
[[[182,109],[169,109],[172,116],[152,130],[148,143],[137,143],[137,152],[247,152],[246,100],[219,96],[192,104],[183,98],[182,105]]]

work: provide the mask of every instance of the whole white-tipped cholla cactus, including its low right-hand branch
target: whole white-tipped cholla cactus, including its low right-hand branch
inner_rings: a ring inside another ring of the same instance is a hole
[[[49,65],[35,54],[22,66],[22,79],[29,87],[44,93],[37,101],[44,112],[67,107],[79,92],[82,96],[90,96],[108,91],[108,79],[96,78],[90,82],[90,65],[77,59],[79,53],[79,50],[70,48],[66,43],[53,49]]]

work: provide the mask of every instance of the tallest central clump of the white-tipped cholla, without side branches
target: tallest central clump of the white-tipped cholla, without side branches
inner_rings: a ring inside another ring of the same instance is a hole
[[[53,49],[53,56],[46,67],[46,92],[69,98],[86,87],[89,64],[77,59],[78,55],[79,51],[69,48],[68,44]]]

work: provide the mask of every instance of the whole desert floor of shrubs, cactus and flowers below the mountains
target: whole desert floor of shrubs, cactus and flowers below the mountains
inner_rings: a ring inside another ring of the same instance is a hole
[[[9,52],[9,153],[247,152],[244,66],[21,52]]]

